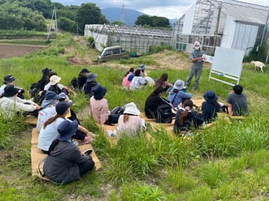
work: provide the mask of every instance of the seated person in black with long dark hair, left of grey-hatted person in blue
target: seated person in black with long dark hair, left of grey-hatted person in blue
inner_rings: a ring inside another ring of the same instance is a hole
[[[146,99],[145,103],[145,114],[146,117],[149,119],[155,119],[158,117],[157,115],[157,109],[160,105],[170,105],[171,109],[173,108],[173,105],[167,101],[165,98],[162,97],[164,92],[163,87],[156,88],[151,95]]]

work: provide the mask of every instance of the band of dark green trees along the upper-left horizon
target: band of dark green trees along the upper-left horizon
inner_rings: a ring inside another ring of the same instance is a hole
[[[0,29],[46,31],[45,19],[52,17],[54,7],[57,8],[58,27],[64,31],[76,32],[77,22],[80,33],[85,24],[109,23],[95,3],[63,6],[50,0],[1,0]]]

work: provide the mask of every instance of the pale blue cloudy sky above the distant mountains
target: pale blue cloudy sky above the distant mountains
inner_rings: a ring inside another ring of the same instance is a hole
[[[53,0],[64,5],[78,5],[81,3],[95,3],[99,8],[118,7],[139,10],[148,15],[158,15],[167,18],[179,18],[184,10],[191,6],[195,0]],[[241,0],[249,3],[256,3],[262,6],[269,6],[269,0]]]

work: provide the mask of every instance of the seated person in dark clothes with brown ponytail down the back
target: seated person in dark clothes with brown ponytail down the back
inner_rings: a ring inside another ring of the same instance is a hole
[[[174,133],[185,133],[191,128],[198,128],[204,123],[202,115],[193,112],[193,101],[186,99],[183,103],[183,108],[177,111],[176,119],[174,121]]]

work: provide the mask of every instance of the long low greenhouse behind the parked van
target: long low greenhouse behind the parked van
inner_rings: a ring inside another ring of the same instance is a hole
[[[102,51],[104,47],[120,45],[131,54],[147,54],[151,45],[161,43],[170,45],[172,31],[166,29],[145,29],[142,27],[120,27],[110,24],[86,24],[84,36],[95,39],[95,47]]]

